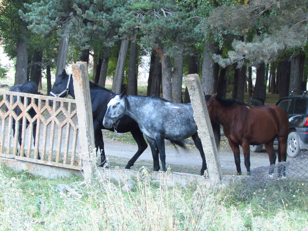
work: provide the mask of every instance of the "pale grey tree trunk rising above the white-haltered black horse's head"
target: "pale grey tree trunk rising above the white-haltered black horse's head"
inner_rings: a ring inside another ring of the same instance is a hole
[[[67,22],[64,25],[62,37],[59,38],[56,77],[58,77],[58,75],[60,75],[62,73],[62,71],[63,71],[63,69],[65,69],[65,65],[66,65],[67,50],[68,50],[68,45],[69,45],[69,41],[70,41],[68,24],[69,24],[69,22]]]

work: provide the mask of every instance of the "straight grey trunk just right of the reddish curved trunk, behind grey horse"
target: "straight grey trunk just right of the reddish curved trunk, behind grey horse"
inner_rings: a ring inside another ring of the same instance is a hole
[[[183,79],[184,56],[174,58],[172,71],[172,100],[174,103],[182,103],[182,79]]]

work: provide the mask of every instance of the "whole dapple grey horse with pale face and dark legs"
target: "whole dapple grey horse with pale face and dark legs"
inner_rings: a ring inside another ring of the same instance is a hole
[[[172,103],[159,97],[117,95],[108,103],[103,125],[106,128],[112,128],[117,120],[127,115],[136,120],[150,144],[154,171],[160,169],[158,155],[163,171],[166,171],[164,139],[180,141],[191,136],[200,152],[202,158],[201,175],[204,175],[206,170],[205,154],[190,103]],[[220,140],[220,132],[218,134]]]

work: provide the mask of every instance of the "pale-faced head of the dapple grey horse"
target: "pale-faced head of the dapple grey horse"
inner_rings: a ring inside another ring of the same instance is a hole
[[[116,95],[110,99],[107,105],[107,111],[104,116],[103,126],[105,128],[114,128],[116,130],[120,119],[124,116],[125,111],[128,110],[129,104],[127,95],[124,92],[121,95]]]

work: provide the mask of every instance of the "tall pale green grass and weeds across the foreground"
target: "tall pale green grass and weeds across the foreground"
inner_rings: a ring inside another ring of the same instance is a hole
[[[236,193],[241,182],[228,188],[209,188],[203,183],[176,188],[164,182],[153,184],[147,175],[148,170],[141,169],[133,189],[126,192],[121,190],[120,180],[51,180],[2,166],[0,230],[263,231],[308,227],[307,182],[290,182],[283,192],[273,184],[243,200]],[[59,184],[75,188],[80,196],[59,192]],[[299,190],[296,197],[294,190]]]

